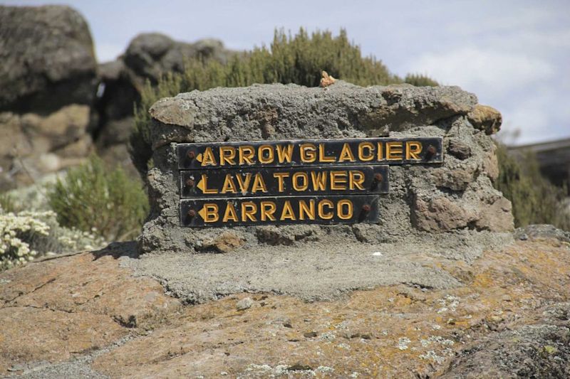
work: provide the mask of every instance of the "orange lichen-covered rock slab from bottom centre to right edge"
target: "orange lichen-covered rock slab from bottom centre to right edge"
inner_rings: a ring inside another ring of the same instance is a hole
[[[569,261],[564,246],[525,242],[461,265],[460,272],[472,274],[452,290],[398,285],[312,304],[257,295],[246,311],[235,304],[247,295],[227,297],[186,308],[178,321],[101,356],[94,367],[141,378],[221,372],[263,378],[291,374],[284,371],[291,366],[311,368],[317,378],[433,375],[475,338],[530,322],[540,305],[532,299],[569,299]],[[458,272],[450,265],[441,267]],[[306,371],[293,373],[300,378]]]

